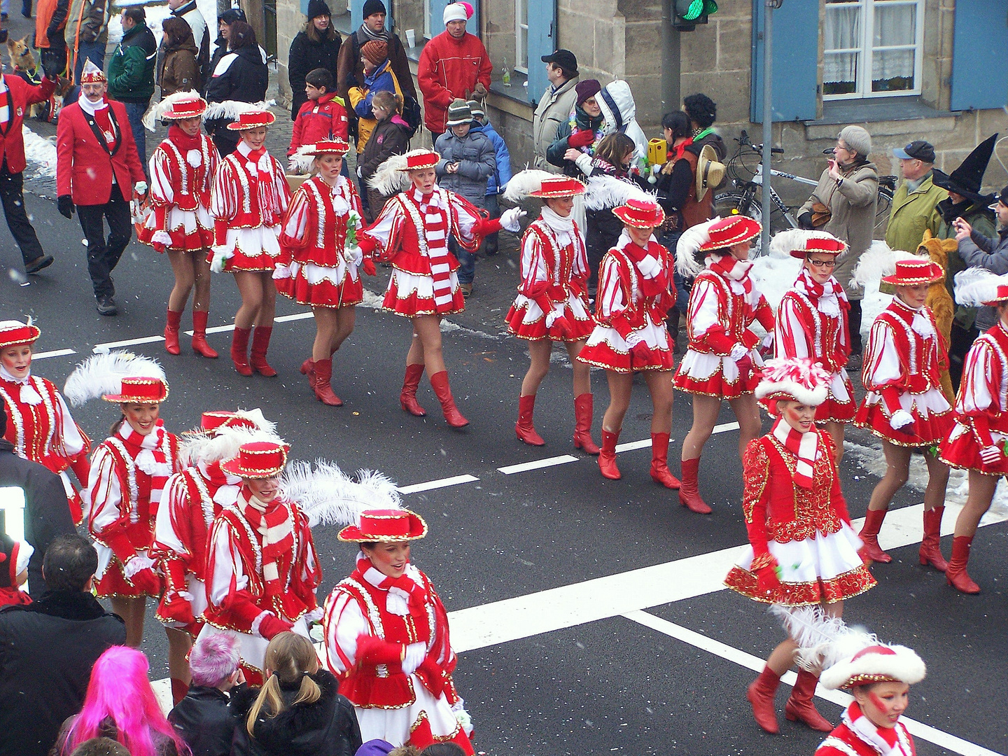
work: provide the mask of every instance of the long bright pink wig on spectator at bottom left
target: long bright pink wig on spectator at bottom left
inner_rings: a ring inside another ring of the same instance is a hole
[[[147,679],[147,657],[135,648],[112,646],[98,657],[91,681],[68,738],[69,751],[86,740],[101,737],[102,721],[112,719],[117,740],[132,756],[156,756],[153,732],[174,741],[180,755],[190,749],[161,714]]]

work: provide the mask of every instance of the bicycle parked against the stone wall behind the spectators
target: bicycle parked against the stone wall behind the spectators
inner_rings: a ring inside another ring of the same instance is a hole
[[[763,188],[763,145],[753,144],[745,130],[735,140],[739,144],[738,151],[732,155],[726,165],[729,177],[729,190],[714,197],[714,213],[722,218],[732,215],[749,216],[762,222],[762,188]],[[773,154],[783,154],[780,147],[771,147]],[[823,151],[832,154],[833,148]],[[778,178],[786,178],[808,186],[817,186],[818,181],[804,176],[787,173],[771,168],[770,174]],[[892,206],[892,196],[896,188],[896,176],[879,176],[879,194],[875,209],[876,235],[884,228],[889,219],[889,208]],[[773,186],[770,186],[770,231],[776,233],[784,229],[796,229],[799,224],[794,217],[794,210],[800,206],[788,206],[780,199]],[[762,254],[762,242],[759,238],[753,244],[753,256]]]

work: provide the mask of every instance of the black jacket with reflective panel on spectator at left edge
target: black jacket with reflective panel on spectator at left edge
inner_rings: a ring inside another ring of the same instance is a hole
[[[35,552],[28,562],[28,588],[37,599],[45,591],[42,557],[57,535],[76,532],[67,505],[62,481],[38,463],[14,454],[14,445],[0,437],[0,488],[13,486],[24,491],[24,539]],[[0,522],[3,512],[0,511]],[[2,731],[0,731],[2,732]]]

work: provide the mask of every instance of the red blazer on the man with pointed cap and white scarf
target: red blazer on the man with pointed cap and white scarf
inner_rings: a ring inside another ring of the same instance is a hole
[[[133,196],[133,184],[146,181],[133,141],[126,107],[109,100],[110,116],[119,127],[120,138],[110,155],[104,141],[92,131],[87,114],[78,103],[59,111],[56,126],[56,195],[70,195],[75,205],[105,205],[112,196],[112,172],[125,200]]]

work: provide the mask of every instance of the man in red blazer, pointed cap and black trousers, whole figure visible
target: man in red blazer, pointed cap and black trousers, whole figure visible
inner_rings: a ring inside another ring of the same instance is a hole
[[[118,314],[112,270],[133,235],[129,199],[147,194],[146,177],[122,103],[109,100],[102,70],[88,60],[81,97],[59,111],[56,127],[56,204],[67,218],[77,207],[88,239],[88,272],[98,311]],[[109,221],[105,239],[103,216]]]

